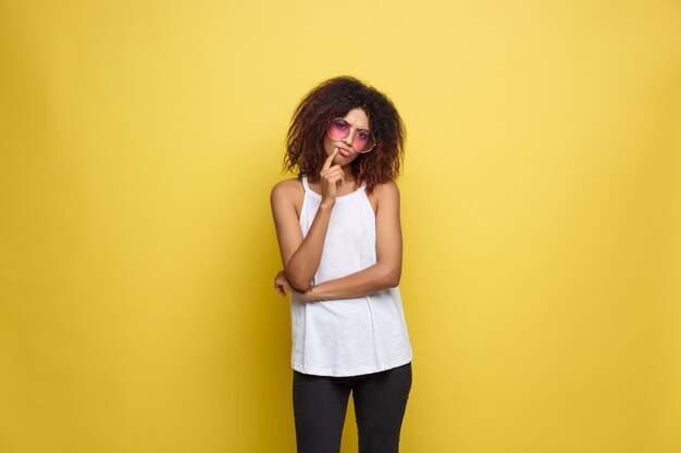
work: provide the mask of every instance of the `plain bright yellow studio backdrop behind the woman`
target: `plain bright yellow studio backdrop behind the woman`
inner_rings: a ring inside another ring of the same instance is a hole
[[[1,0],[0,64],[1,453],[295,451],[269,193],[340,74],[409,133],[401,451],[681,452],[681,2]]]

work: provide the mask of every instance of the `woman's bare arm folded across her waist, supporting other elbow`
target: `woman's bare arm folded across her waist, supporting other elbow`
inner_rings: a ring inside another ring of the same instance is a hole
[[[376,264],[335,280],[296,292],[304,301],[360,298],[399,284],[403,237],[399,222],[399,189],[394,181],[376,186]]]

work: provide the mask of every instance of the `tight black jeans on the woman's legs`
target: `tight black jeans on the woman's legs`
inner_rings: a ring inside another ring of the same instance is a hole
[[[396,453],[411,388],[411,364],[350,377],[294,370],[294,416],[298,453],[338,453],[352,393],[359,453]]]

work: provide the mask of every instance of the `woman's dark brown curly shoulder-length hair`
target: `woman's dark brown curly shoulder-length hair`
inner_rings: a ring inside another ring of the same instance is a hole
[[[302,98],[286,136],[284,169],[317,178],[326,158],[323,143],[329,121],[355,108],[369,116],[376,144],[352,161],[352,175],[360,184],[367,183],[370,193],[375,185],[394,180],[405,153],[403,119],[385,95],[350,76],[323,81]]]

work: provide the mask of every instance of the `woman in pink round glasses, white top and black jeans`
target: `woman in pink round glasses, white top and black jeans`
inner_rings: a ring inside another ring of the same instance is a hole
[[[312,89],[296,109],[272,189],[290,291],[299,453],[337,453],[350,393],[360,453],[398,451],[411,347],[397,284],[404,126],[391,100],[352,77]]]

